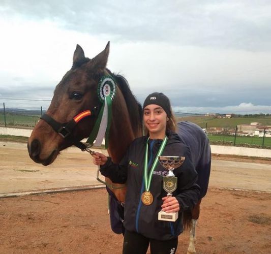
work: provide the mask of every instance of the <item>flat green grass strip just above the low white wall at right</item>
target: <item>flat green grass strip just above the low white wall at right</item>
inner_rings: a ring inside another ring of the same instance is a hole
[[[210,143],[227,143],[233,145],[234,136],[229,135],[208,135]],[[262,146],[263,138],[259,137],[236,137],[235,144],[236,145],[247,145],[247,146]],[[271,138],[264,138],[264,146],[271,147]]]

